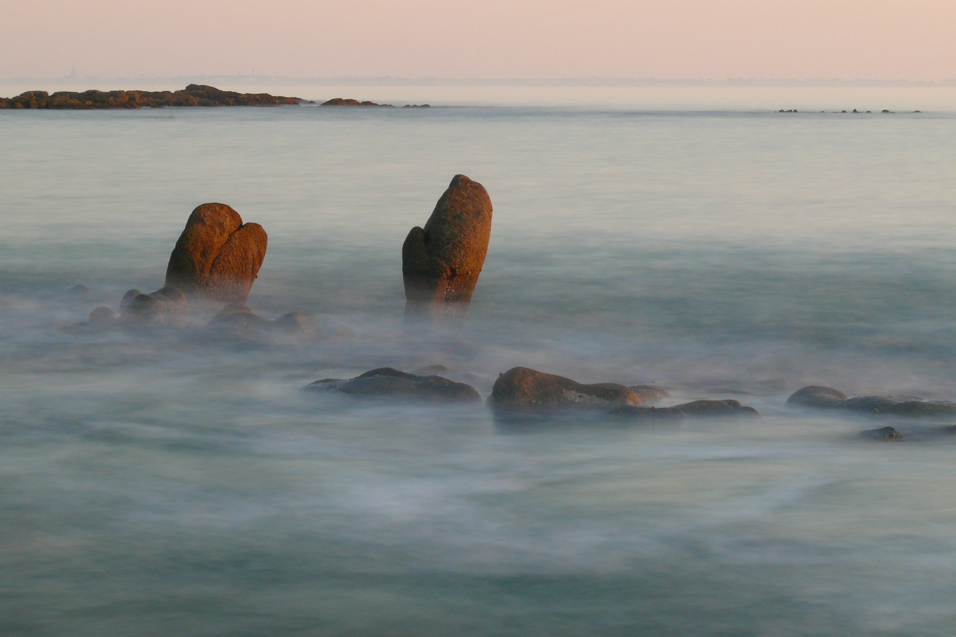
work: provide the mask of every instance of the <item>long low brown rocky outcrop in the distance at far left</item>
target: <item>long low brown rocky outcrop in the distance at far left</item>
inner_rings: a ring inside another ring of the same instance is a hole
[[[182,91],[28,91],[15,97],[0,97],[0,109],[116,109],[163,106],[298,106],[313,103],[299,97],[268,93],[235,93],[214,86],[189,84]]]

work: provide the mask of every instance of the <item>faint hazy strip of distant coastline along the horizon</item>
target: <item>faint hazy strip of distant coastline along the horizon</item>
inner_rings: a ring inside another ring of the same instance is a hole
[[[784,77],[392,77],[341,76],[309,77],[266,74],[235,75],[159,75],[132,77],[80,76],[75,74],[55,77],[0,77],[2,85],[76,84],[99,82],[102,84],[228,84],[275,86],[470,86],[470,87],[956,87],[956,78],[940,81],[871,78],[824,78],[807,79]]]

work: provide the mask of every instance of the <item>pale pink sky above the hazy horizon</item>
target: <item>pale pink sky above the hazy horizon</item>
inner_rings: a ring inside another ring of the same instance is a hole
[[[956,0],[0,0],[0,77],[956,78]]]

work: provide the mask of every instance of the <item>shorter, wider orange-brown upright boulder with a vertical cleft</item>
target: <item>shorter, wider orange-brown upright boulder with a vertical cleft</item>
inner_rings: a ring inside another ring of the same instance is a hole
[[[225,203],[204,203],[189,215],[169,255],[166,287],[214,301],[246,303],[266,258],[266,231]]]

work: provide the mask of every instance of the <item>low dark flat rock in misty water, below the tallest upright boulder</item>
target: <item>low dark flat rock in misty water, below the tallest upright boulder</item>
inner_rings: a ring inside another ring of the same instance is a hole
[[[355,378],[325,378],[303,388],[307,392],[337,392],[357,398],[411,398],[424,402],[480,402],[481,396],[465,383],[441,376],[419,376],[383,367]]]

